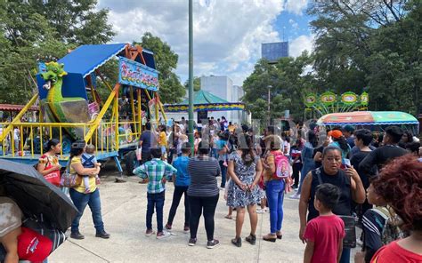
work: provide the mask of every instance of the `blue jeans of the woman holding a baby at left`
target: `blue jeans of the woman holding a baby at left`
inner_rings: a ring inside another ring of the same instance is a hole
[[[77,192],[77,190],[70,188],[69,189],[70,198],[77,207],[77,217],[73,219],[71,231],[72,233],[79,232],[79,220],[84,214],[86,204],[88,204],[89,209],[93,214],[93,226],[95,227],[97,233],[104,231],[104,223],[102,222],[101,216],[101,200],[100,200],[100,189],[96,189],[93,193],[83,194]]]

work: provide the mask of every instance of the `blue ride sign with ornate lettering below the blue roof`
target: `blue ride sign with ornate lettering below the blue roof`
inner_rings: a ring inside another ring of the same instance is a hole
[[[118,59],[118,83],[158,91],[158,71],[134,60]]]

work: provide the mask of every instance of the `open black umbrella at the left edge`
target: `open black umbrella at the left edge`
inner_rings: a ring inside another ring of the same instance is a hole
[[[14,199],[28,217],[43,214],[53,228],[63,232],[77,215],[69,197],[31,165],[0,159],[0,195]]]

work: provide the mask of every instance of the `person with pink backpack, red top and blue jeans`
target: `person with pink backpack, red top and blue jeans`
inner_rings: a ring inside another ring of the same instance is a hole
[[[270,208],[270,234],[263,239],[275,242],[281,239],[283,221],[283,199],[286,188],[285,179],[290,176],[288,158],[280,150],[281,141],[277,136],[269,135],[265,139],[268,154],[264,158],[265,193]]]

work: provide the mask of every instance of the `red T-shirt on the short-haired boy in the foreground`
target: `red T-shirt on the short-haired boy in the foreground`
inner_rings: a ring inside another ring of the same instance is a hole
[[[306,225],[304,238],[314,243],[311,262],[337,263],[338,244],[345,237],[345,223],[337,215],[319,216]]]

